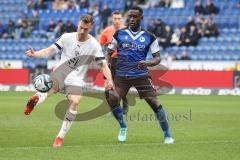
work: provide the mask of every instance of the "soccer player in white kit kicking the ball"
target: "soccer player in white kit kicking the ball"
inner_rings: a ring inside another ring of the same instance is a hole
[[[80,17],[78,22],[77,32],[73,33],[65,33],[60,39],[52,44],[50,47],[46,49],[42,49],[39,51],[34,51],[33,49],[29,49],[25,52],[25,54],[29,57],[48,57],[54,53],[61,51],[61,59],[58,65],[55,67],[58,68],[66,61],[70,59],[86,56],[86,57],[95,57],[95,61],[100,64],[102,72],[106,77],[107,87],[112,88],[112,76],[111,72],[108,68],[107,62],[104,58],[102,49],[98,41],[93,38],[89,32],[93,27],[93,17],[91,15],[83,15]],[[84,86],[84,77],[87,72],[88,65],[82,64],[77,68],[77,70],[73,70],[64,80],[64,88],[68,86]],[[61,88],[53,87],[47,93],[37,92],[34,96],[30,97],[26,108],[25,114],[29,115],[34,107],[40,103],[42,103],[47,96],[51,95],[54,92],[58,92]],[[77,115],[77,106],[82,97],[81,93],[78,94],[68,94],[67,98],[69,100],[69,109],[66,112],[66,115],[63,120],[62,127],[54,140],[53,147],[61,147],[64,136],[68,132],[71,127],[72,122],[76,118]]]

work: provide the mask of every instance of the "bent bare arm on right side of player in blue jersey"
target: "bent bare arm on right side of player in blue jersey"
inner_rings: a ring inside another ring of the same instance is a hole
[[[160,63],[160,60],[161,60],[160,53],[157,52],[153,54],[153,59],[147,60],[147,61],[140,61],[138,63],[138,67],[139,69],[146,69],[147,67],[153,67],[158,65]]]

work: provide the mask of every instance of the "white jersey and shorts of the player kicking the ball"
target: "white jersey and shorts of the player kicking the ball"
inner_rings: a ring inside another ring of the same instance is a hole
[[[89,39],[84,42],[77,40],[77,32],[65,33],[60,39],[51,45],[56,52],[61,51],[61,58],[54,70],[66,61],[75,57],[84,56],[84,60],[77,69],[74,69],[64,80],[64,85],[84,86],[84,78],[88,70],[89,64],[86,62],[105,61],[102,48],[98,41],[89,35]],[[94,59],[92,59],[94,57]],[[91,59],[89,59],[91,58]]]

